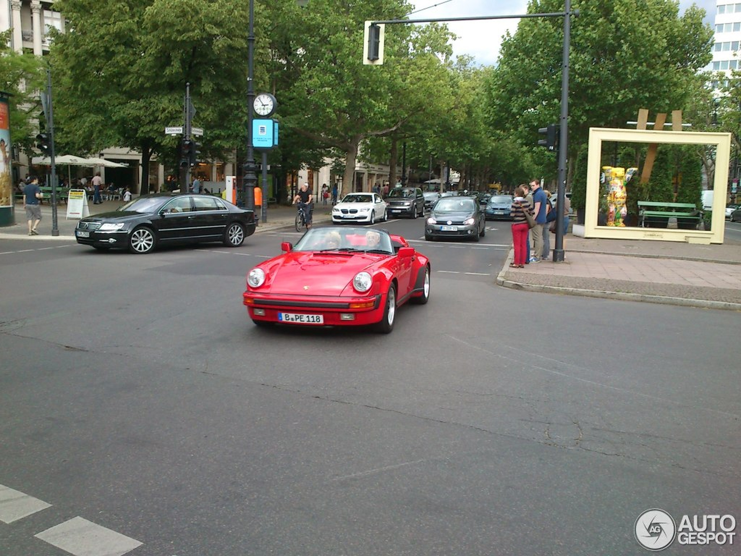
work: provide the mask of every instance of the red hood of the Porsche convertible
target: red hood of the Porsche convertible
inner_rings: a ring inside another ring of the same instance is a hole
[[[360,271],[373,275],[373,267],[388,257],[368,253],[287,253],[262,265],[268,288],[258,288],[257,291],[339,296],[349,287],[348,294],[362,295],[353,290],[353,277]]]

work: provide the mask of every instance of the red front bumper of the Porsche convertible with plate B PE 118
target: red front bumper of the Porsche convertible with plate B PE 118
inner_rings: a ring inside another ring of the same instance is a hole
[[[285,322],[282,313],[322,315],[321,325],[301,323],[308,326],[359,326],[371,325],[383,318],[385,295],[376,294],[357,297],[302,296],[288,294],[261,294],[247,290],[242,294],[242,303],[253,320]]]

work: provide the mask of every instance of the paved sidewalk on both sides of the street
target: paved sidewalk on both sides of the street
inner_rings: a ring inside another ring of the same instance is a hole
[[[119,201],[91,205],[90,214],[114,211]],[[67,220],[67,206],[57,214],[59,236],[51,236],[49,205],[41,208],[39,236],[28,236],[22,206],[16,205],[16,225],[0,228],[2,239],[62,239],[74,241],[77,220]],[[316,205],[314,223],[330,222],[332,206]],[[293,227],[296,208],[268,208],[268,222],[259,222],[256,234]],[[554,239],[551,237],[551,247]],[[424,251],[424,249],[422,249]],[[551,256],[552,258],[552,256]],[[496,283],[506,288],[554,294],[630,299],[694,307],[741,311],[741,245],[697,245],[622,239],[565,238],[565,260],[509,268],[512,252]]]

